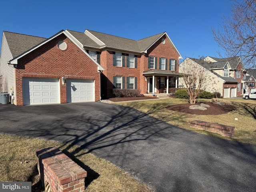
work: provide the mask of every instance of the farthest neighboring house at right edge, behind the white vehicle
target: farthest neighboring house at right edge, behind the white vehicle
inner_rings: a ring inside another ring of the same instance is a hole
[[[246,72],[244,94],[256,91],[256,69],[246,69]]]

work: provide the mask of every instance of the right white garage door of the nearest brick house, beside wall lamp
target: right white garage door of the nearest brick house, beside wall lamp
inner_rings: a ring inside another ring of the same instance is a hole
[[[94,100],[94,80],[67,79],[67,103],[92,102]]]

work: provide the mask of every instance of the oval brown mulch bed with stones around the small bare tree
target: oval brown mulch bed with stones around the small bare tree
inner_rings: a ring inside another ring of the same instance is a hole
[[[172,105],[172,106],[166,107],[166,109],[193,114],[193,115],[220,115],[220,114],[226,114],[230,111],[236,110],[236,107],[232,105],[219,105],[219,104],[214,104],[210,102],[205,104],[208,104],[210,106],[209,108],[207,108],[207,110],[190,109],[189,108],[189,106],[191,106],[190,103]],[[200,105],[200,103],[196,105]]]

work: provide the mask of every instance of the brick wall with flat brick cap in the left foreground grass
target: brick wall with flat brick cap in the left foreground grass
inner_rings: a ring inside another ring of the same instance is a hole
[[[36,151],[46,192],[84,192],[87,172],[56,147]]]

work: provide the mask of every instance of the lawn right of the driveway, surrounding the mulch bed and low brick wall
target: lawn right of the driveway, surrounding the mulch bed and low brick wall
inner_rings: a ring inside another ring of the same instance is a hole
[[[256,100],[242,99],[223,99],[226,102],[231,102],[236,106],[237,110],[222,115],[192,115],[182,112],[176,112],[166,109],[171,105],[187,103],[188,99],[158,99],[158,100],[143,100],[135,102],[116,102],[115,104],[128,106],[144,112],[154,118],[160,119],[169,124],[220,138],[230,139],[204,130],[198,130],[190,127],[191,120],[200,120],[206,122],[218,122],[228,126],[234,126],[234,138],[238,142],[256,144]],[[210,99],[198,99],[198,102],[211,102]],[[238,120],[235,120],[238,118]]]

